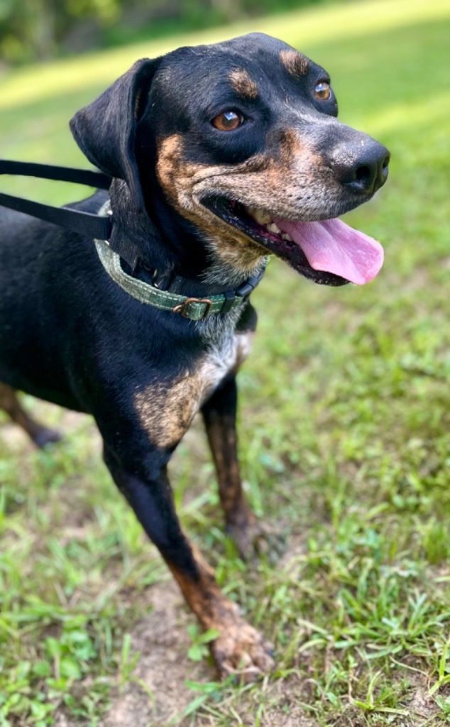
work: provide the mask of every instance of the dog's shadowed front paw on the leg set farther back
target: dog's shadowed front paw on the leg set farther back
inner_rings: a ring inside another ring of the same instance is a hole
[[[227,532],[233,538],[243,561],[268,558],[275,563],[284,550],[284,539],[270,525],[253,516],[245,525],[230,523]]]

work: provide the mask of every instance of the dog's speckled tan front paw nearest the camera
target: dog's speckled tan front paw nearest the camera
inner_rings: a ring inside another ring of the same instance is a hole
[[[222,679],[233,674],[246,684],[262,678],[275,666],[272,644],[237,613],[221,624],[220,636],[210,648]]]

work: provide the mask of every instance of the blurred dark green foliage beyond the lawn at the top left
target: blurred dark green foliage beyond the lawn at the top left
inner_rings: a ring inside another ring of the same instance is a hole
[[[30,63],[332,1],[0,0],[0,55]]]

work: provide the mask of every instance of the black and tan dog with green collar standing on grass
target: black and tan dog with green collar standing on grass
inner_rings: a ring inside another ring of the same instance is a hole
[[[0,216],[0,406],[39,446],[15,390],[95,417],[104,457],[188,605],[220,635],[221,675],[270,670],[270,647],[180,528],[167,463],[201,411],[228,531],[264,532],[236,459],[236,373],[268,254],[326,285],[362,284],[382,249],[337,215],[387,177],[387,150],[340,124],[329,76],[252,34],[140,60],[71,122],[113,177],[73,205],[113,214],[111,246]],[[113,252],[116,251],[116,252]],[[120,257],[119,257],[120,254]]]

